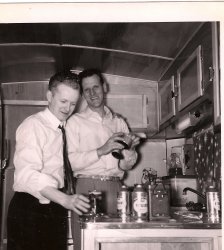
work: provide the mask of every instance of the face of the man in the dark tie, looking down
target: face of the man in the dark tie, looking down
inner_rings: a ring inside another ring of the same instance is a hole
[[[48,91],[49,110],[60,121],[66,121],[72,114],[79,99],[79,90],[60,84],[54,91]]]

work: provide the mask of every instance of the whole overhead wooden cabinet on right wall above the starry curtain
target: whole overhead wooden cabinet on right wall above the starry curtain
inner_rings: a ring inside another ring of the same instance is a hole
[[[194,131],[194,128],[200,123],[211,123],[214,113],[215,120],[220,120],[220,100],[219,95],[219,70],[218,63],[218,45],[217,39],[219,34],[214,29],[215,23],[203,23],[199,29],[192,35],[185,47],[180,51],[179,55],[170,64],[159,81],[159,104],[160,106],[160,131],[171,127],[169,131],[175,130],[177,124],[182,121],[185,116],[197,118],[194,124],[185,128],[185,133],[189,127],[189,131]],[[213,73],[214,72],[214,73]],[[167,97],[170,93],[170,84],[167,79],[174,77],[174,89],[176,90],[175,97],[170,100]],[[161,84],[164,83],[165,85]],[[213,88],[214,83],[214,88]],[[164,94],[168,91],[166,94]],[[213,89],[215,97],[213,100]],[[175,105],[175,110],[170,109],[171,103]],[[164,110],[162,110],[164,109]],[[166,130],[167,131],[167,130]],[[172,133],[171,137],[178,136]],[[178,132],[179,133],[179,132]],[[187,133],[187,132],[186,132]],[[174,135],[173,135],[174,134]],[[182,134],[184,135],[184,134]],[[170,135],[166,132],[166,138]]]

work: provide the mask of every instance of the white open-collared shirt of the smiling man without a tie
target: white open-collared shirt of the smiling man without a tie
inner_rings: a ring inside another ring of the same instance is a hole
[[[97,148],[116,132],[129,133],[125,121],[112,114],[105,107],[106,115],[102,118],[98,113],[86,108],[80,114],[74,114],[67,121],[69,160],[74,174],[106,175],[122,178],[124,172],[118,168],[118,160],[112,154],[98,158]],[[127,164],[134,165],[137,153],[123,150]]]

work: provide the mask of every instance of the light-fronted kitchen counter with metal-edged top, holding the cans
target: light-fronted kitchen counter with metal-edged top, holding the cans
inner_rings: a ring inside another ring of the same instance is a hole
[[[205,218],[162,218],[136,222],[100,216],[81,220],[82,250],[221,250],[221,223]]]

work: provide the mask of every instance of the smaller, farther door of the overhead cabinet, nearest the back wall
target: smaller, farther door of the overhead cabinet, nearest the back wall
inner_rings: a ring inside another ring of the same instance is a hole
[[[175,115],[174,76],[164,81],[159,91],[159,124],[166,122]]]

